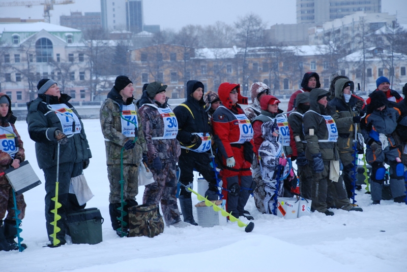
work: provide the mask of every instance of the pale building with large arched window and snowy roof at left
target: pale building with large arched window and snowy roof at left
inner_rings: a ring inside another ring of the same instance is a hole
[[[44,22],[0,23],[0,87],[13,103],[37,96],[52,78],[73,101],[90,100],[90,73],[81,30]]]

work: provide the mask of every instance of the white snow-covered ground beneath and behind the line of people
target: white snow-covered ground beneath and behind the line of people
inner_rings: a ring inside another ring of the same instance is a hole
[[[229,222],[212,228],[165,227],[154,238],[120,238],[110,226],[100,123],[83,123],[93,153],[84,174],[95,194],[87,208],[99,208],[105,218],[103,242],[44,248],[48,238],[41,184],[24,193],[27,209],[21,237],[28,248],[22,253],[0,252],[2,271],[407,271],[407,205],[382,200],[382,205],[372,206],[364,189],[356,196],[362,213],[334,210],[334,216],[313,213],[285,220],[260,214],[250,198],[246,210],[255,218],[251,233]],[[26,159],[44,183],[25,121],[16,127]],[[143,189],[139,187],[138,202]],[[193,201],[198,202],[194,195]]]

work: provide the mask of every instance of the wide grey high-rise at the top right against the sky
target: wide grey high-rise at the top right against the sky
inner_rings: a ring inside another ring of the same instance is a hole
[[[358,11],[382,12],[382,0],[297,0],[297,23],[323,24]]]

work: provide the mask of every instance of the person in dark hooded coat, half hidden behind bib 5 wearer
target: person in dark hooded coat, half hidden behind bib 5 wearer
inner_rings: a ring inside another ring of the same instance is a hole
[[[307,147],[305,136],[303,133],[303,116],[309,110],[309,92],[302,92],[296,98],[296,110],[288,115],[288,125],[290,133],[293,135],[294,141],[290,144],[293,150],[297,152],[297,175],[300,179],[301,196],[307,199],[312,198],[312,168],[309,168],[309,163],[305,157]]]

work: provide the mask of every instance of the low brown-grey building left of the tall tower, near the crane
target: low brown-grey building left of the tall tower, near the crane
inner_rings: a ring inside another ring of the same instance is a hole
[[[100,12],[71,12],[71,15],[60,16],[60,24],[80,30],[95,29],[102,27]]]

